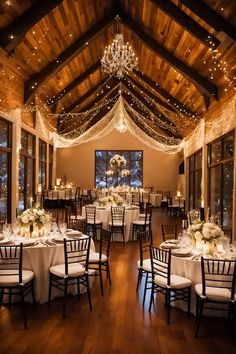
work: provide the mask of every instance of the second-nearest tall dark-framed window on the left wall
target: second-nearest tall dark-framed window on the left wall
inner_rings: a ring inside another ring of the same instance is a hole
[[[19,163],[19,210],[29,206],[35,195],[35,136],[21,130],[21,150]]]

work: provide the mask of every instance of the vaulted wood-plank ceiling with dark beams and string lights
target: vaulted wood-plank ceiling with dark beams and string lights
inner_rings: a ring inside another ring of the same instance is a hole
[[[235,73],[235,1],[3,0],[0,45],[25,81],[25,103],[40,93],[53,112],[69,113],[104,99],[110,83],[100,60],[116,33],[116,15],[139,59],[122,82],[124,95],[145,97],[144,105],[177,128],[184,116],[192,129],[227,83],[215,69],[214,49]],[[160,107],[181,117],[164,116]]]

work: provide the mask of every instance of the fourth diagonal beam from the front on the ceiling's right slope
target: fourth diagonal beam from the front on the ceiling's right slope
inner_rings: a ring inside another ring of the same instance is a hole
[[[173,128],[175,128],[175,124],[172,123],[163,113],[160,113],[155,107],[150,107],[147,102],[143,99],[143,96],[138,93],[131,85],[128,86],[128,83],[125,80],[122,80],[123,85],[126,87],[126,89],[128,91],[130,91],[130,93],[140,102],[142,102],[142,104],[149,110],[151,111],[154,116],[158,117],[158,119],[160,119],[163,123],[166,123],[170,126],[172,126]],[[174,133],[174,132],[170,132],[168,129],[164,129],[161,128],[160,129],[164,130],[165,133],[169,136],[174,136],[175,138],[182,138],[182,136],[179,133]]]

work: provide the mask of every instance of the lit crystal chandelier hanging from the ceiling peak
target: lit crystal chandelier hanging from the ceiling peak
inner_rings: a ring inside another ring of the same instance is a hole
[[[119,20],[119,16],[116,16],[118,33],[112,44],[105,48],[101,64],[104,72],[115,74],[120,79],[138,65],[138,58],[129,43],[124,43],[123,34],[119,33]]]

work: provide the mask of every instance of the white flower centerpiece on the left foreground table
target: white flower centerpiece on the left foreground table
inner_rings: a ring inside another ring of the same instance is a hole
[[[51,217],[44,209],[26,209],[21,215],[18,216],[18,221],[21,226],[29,226],[37,224],[43,226],[51,221]]]

